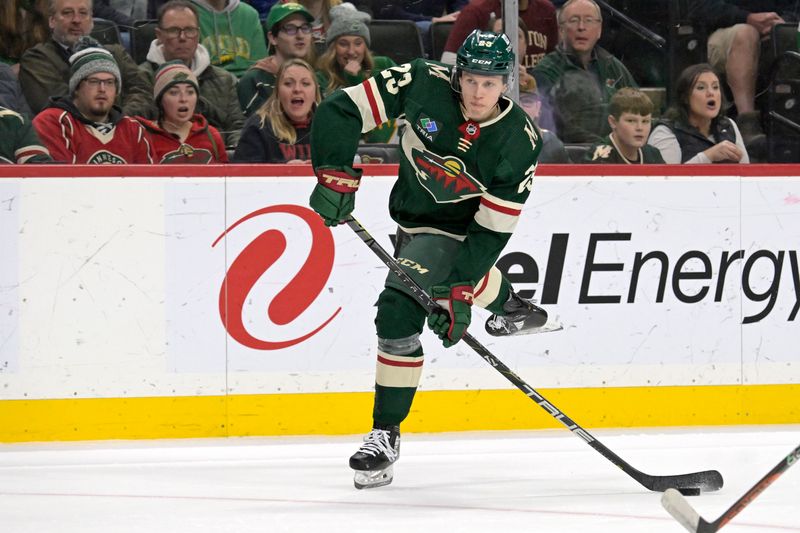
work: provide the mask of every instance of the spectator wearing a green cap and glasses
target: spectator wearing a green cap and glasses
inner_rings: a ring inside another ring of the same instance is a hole
[[[239,80],[236,90],[245,116],[267,101],[275,88],[275,76],[284,61],[298,58],[314,64],[311,23],[314,16],[298,3],[275,4],[267,15],[268,57],[258,61]]]

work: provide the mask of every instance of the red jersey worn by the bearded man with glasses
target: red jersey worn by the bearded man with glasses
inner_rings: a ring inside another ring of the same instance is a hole
[[[36,115],[33,126],[55,161],[79,164],[153,163],[144,127],[118,108],[109,114],[109,131],[85,118],[68,97]]]

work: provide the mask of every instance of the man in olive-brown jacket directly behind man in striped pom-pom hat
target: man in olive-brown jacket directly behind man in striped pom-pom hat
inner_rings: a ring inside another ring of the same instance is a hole
[[[28,49],[20,59],[19,81],[31,111],[48,106],[50,97],[67,96],[70,79],[69,57],[73,46],[88,36],[94,25],[91,0],[50,0],[52,39]],[[154,112],[153,86],[147,82],[121,45],[107,45],[122,74],[119,104],[126,115]]]

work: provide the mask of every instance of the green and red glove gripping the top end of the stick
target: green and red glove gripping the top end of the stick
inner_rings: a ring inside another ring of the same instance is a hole
[[[325,221],[336,226],[350,216],[356,206],[355,192],[361,181],[361,170],[349,167],[315,169],[317,185],[309,205]]]

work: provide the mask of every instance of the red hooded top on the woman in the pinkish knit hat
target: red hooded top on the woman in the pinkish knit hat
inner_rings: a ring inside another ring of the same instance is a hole
[[[222,135],[203,115],[195,114],[192,117],[192,129],[183,141],[156,121],[144,117],[136,117],[136,120],[142,123],[150,135],[156,163],[202,165],[228,162]]]

